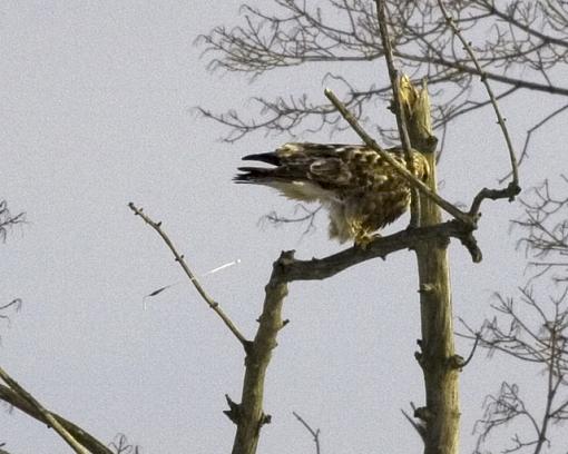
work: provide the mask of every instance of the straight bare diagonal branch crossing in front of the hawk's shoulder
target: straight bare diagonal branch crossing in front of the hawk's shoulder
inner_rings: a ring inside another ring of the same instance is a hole
[[[365,130],[361,127],[356,118],[345,108],[345,106],[337,99],[335,93],[326,88],[324,90],[327,99],[335,106],[335,108],[340,111],[342,117],[351,125],[353,130],[358,134],[359,137],[365,142],[369,148],[372,148],[376,151],[381,158],[383,158],[390,166],[392,166],[407,181],[410,182],[413,187],[420,190],[423,195],[434,200],[441,208],[452,215],[456,219],[459,219],[463,224],[470,227],[474,227],[474,219],[472,219],[468,214],[460,210],[458,207],[449,203],[448,200],[440,197],[433,190],[431,190],[427,185],[420,181],[417,177],[414,177],[410,171],[407,170],[404,166],[401,166],[396,162],[386,151],[384,151],[376,141],[369,136]]]

